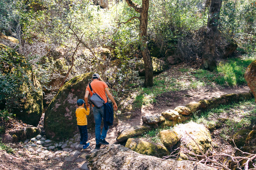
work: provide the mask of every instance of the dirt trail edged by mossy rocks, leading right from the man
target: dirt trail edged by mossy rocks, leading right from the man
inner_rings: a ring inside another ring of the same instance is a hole
[[[249,92],[248,86],[239,86],[234,88],[223,88],[223,89],[200,89],[200,90],[183,90],[163,93],[156,98],[156,104],[150,107],[142,107],[136,110],[138,116],[128,121],[119,120],[119,124],[108,130],[106,141],[109,143],[116,143],[117,132],[123,128],[129,128],[134,125],[142,125],[141,116],[153,116],[161,115],[161,113],[168,109],[174,109],[177,106],[185,106],[187,103],[192,101],[199,101],[202,99],[210,99],[212,97],[220,97],[223,94],[229,93],[242,93]],[[168,106],[167,106],[168,104]],[[92,146],[95,145],[95,139],[89,141]]]

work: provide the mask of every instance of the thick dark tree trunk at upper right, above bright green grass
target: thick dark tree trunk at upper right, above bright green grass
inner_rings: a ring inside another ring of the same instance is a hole
[[[218,23],[222,0],[211,0],[207,22],[206,36],[204,37],[204,53],[202,55],[202,69],[213,71],[215,62],[215,43],[219,34]]]

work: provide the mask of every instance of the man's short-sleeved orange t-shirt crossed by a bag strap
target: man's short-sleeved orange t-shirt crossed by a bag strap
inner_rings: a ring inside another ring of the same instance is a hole
[[[108,101],[106,94],[105,94],[105,88],[108,87],[105,82],[99,81],[99,80],[93,80],[91,82],[93,93],[97,93],[104,101],[105,103]],[[86,91],[90,92],[90,95],[92,96],[92,92],[90,90],[89,85],[86,88]]]

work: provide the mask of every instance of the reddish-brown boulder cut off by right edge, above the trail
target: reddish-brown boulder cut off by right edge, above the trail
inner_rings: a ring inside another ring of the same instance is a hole
[[[256,102],[256,60],[247,67],[244,78],[248,83]]]

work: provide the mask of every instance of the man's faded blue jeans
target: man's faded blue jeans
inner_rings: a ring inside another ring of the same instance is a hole
[[[99,144],[100,139],[105,139],[107,136],[108,129],[105,130],[105,128],[102,129],[102,133],[100,133],[100,125],[101,120],[104,115],[104,106],[97,109],[96,107],[93,107],[93,116],[95,120],[95,140],[96,144]]]

